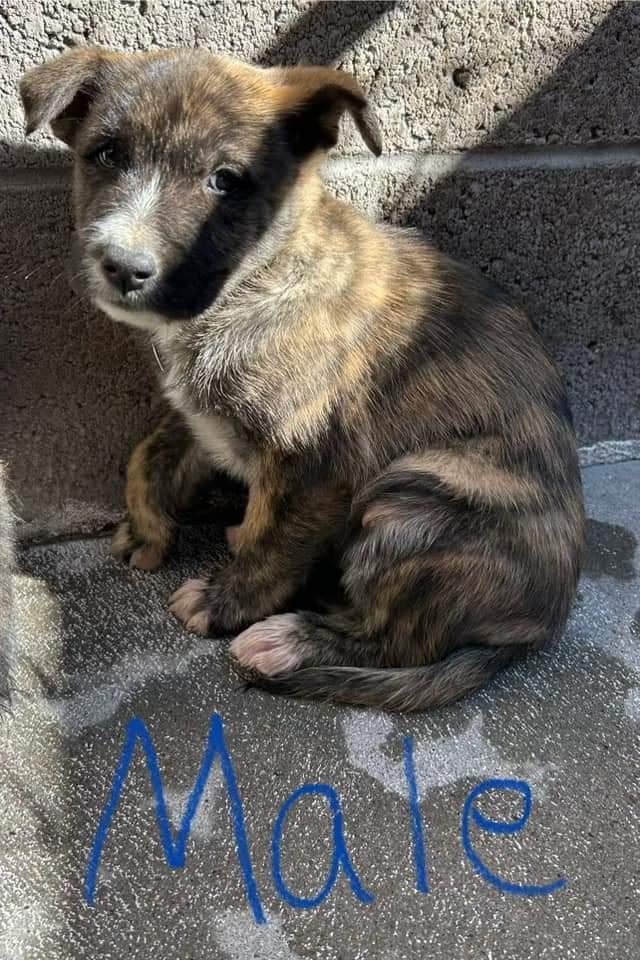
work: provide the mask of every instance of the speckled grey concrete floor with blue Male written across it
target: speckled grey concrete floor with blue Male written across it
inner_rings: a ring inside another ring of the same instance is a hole
[[[0,727],[2,960],[637,958],[640,460],[584,478],[590,549],[562,643],[410,718],[243,690],[225,644],[167,614],[170,591],[203,564],[202,543],[155,575],[111,560],[105,540],[25,552],[19,691]],[[181,862],[175,838],[216,713],[233,776],[218,759],[200,783],[184,867],[167,865],[140,743],[91,859],[127,731],[146,728],[174,830],[165,847]],[[514,792],[469,797],[488,778],[530,786],[526,829],[469,820],[474,809],[501,823],[521,815]],[[301,797],[278,824],[305,783],[336,793]],[[349,861],[334,846],[336,797]],[[303,908],[294,898],[313,900],[332,860],[335,886]],[[561,880],[536,896],[496,886]]]

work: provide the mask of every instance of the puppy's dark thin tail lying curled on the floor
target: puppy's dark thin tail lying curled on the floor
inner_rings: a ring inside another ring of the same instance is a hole
[[[234,662],[252,686],[272,693],[358,707],[411,712],[443,707],[482,687],[522,654],[518,645],[462,647],[439,663],[422,667],[305,667],[265,676]]]

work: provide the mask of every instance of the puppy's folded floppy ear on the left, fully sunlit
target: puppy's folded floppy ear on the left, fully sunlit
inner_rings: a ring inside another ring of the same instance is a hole
[[[20,81],[27,135],[46,124],[69,146],[98,89],[102,66],[117,57],[100,47],[79,47],[27,71]]]

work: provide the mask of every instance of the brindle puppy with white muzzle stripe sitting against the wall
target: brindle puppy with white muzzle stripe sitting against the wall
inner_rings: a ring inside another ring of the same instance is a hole
[[[326,192],[348,74],[78,49],[21,84],[75,152],[84,286],[148,334],[172,410],[134,451],[116,556],[165,558],[212,467],[248,488],[228,563],[174,594],[236,668],[302,697],[449,703],[562,629],[583,507],[556,367],[485,277]],[[342,599],[288,611],[336,557]],[[243,632],[240,632],[243,631]]]

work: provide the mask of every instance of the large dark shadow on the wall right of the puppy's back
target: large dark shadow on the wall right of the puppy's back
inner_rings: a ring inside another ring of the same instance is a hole
[[[460,96],[473,97],[473,69],[462,68]],[[518,151],[492,157],[481,145],[449,175],[425,180],[417,200],[398,185],[388,211],[526,304],[564,371],[583,442],[640,435],[640,144],[618,156],[606,149],[629,133],[609,113],[617,86],[640,103],[637,3],[614,7],[492,131],[494,141],[525,131],[528,141],[553,145],[562,131],[565,143],[584,143],[576,118],[587,116],[590,144],[550,146],[544,166],[534,157],[528,167]],[[580,91],[579,103],[568,90]]]

